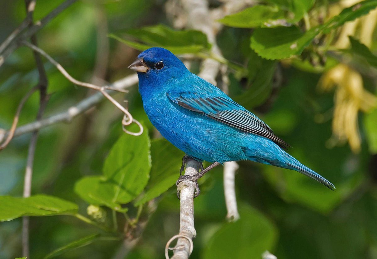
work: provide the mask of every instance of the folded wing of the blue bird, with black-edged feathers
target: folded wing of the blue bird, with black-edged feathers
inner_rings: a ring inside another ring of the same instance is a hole
[[[224,93],[219,96],[202,96],[195,92],[167,92],[167,97],[179,106],[193,112],[202,113],[245,132],[253,133],[274,141],[280,147],[289,145],[274,135],[267,126],[253,113],[231,100]]]

